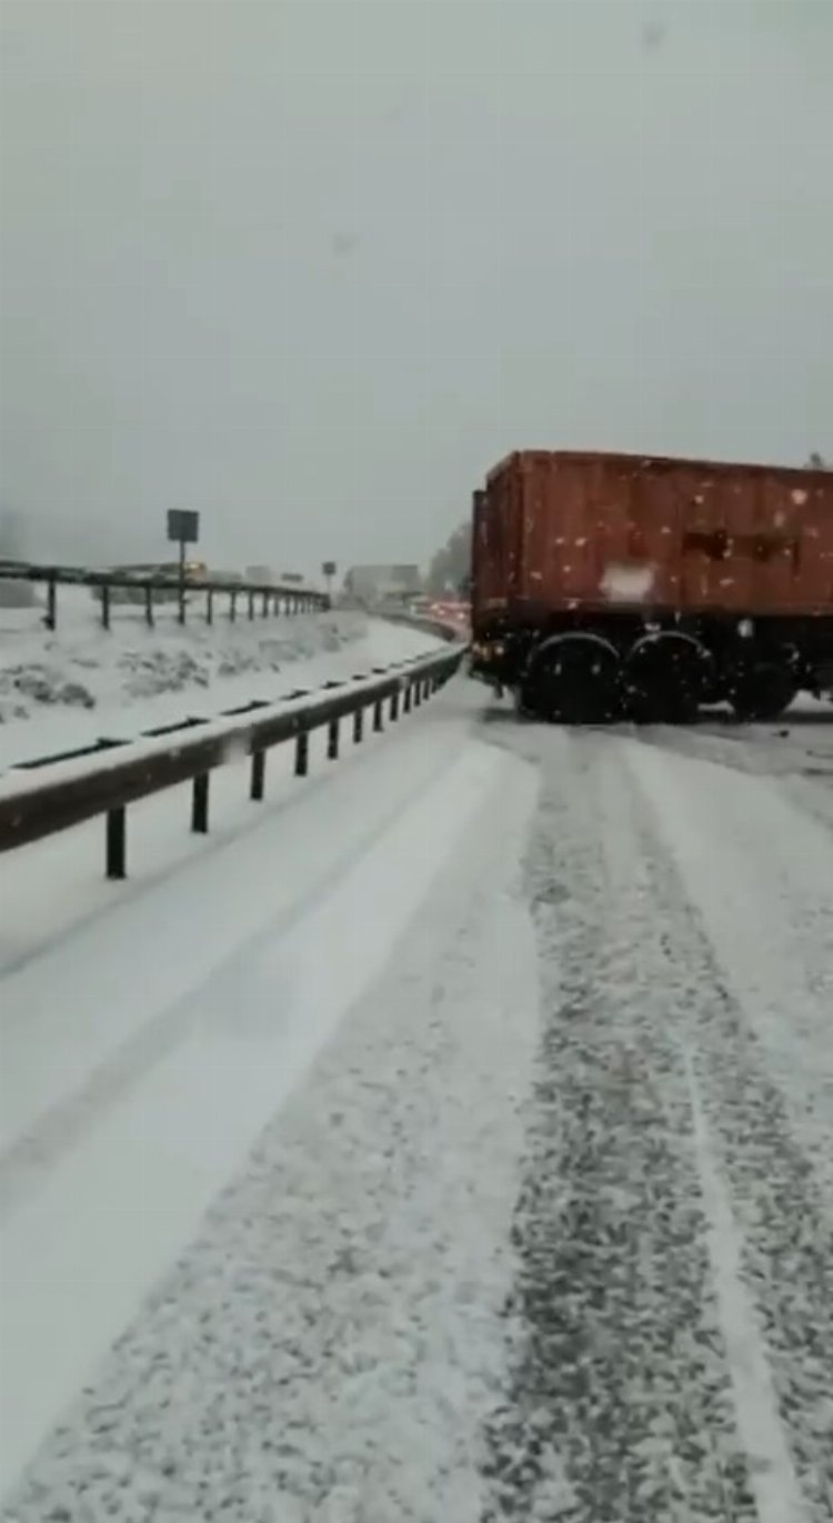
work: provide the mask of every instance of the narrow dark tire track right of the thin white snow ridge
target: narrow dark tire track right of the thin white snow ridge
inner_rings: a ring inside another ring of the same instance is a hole
[[[649,838],[653,810],[634,800]],[[716,862],[719,871],[719,862]],[[833,1215],[827,1180],[833,1138],[819,1156],[799,1130],[801,1066],[774,1077],[768,1051],[742,1002],[732,996],[699,911],[691,905],[669,851],[652,850],[658,905],[675,911],[667,940],[667,988],[681,1011],[678,1030],[691,1052],[702,1124],[740,1234],[740,1267],[766,1343],[780,1421],[806,1499],[793,1515],[833,1518]],[[737,915],[749,914],[737,903]],[[806,912],[803,905],[798,912]],[[766,949],[769,952],[771,949]],[[761,947],[761,958],[766,956]],[[777,949],[775,949],[777,952]],[[810,970],[809,975],[810,978]],[[815,998],[810,995],[809,998]],[[790,1008],[783,1010],[789,1031]],[[743,1374],[743,1371],[742,1371]],[[758,1445],[769,1448],[769,1442]],[[755,1454],[758,1482],[772,1479],[771,1453]],[[777,1483],[777,1477],[775,1477]],[[766,1515],[766,1514],[761,1514]]]

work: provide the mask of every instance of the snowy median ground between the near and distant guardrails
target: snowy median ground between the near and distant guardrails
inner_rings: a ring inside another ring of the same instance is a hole
[[[212,629],[171,621],[151,631],[123,620],[111,635],[85,621],[55,635],[0,632],[0,769],[189,714],[280,699],[439,644],[355,612]]]

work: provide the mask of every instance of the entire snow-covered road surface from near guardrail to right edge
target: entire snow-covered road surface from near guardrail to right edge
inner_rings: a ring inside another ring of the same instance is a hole
[[[3,1520],[833,1518],[831,774],[460,679],[9,964]]]

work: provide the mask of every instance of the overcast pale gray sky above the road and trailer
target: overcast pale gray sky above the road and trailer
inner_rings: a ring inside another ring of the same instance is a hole
[[[181,506],[215,564],[425,560],[516,446],[833,448],[830,0],[2,15],[32,524],[151,554]]]

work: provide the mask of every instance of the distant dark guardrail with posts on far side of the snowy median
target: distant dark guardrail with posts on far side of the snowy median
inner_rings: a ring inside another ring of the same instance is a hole
[[[186,623],[186,608],[195,594],[203,594],[204,620],[213,624],[215,599],[228,599],[228,618],[238,618],[242,603],[248,618],[256,617],[257,608],[262,617],[270,614],[309,614],[327,609],[330,599],[326,592],[312,589],[273,585],[259,582],[230,582],[225,577],[195,577],[186,576],[181,583],[178,577],[166,573],[149,576],[126,571],[91,571],[84,567],[49,567],[29,565],[27,562],[2,562],[0,582],[27,582],[46,586],[44,626],[58,627],[58,588],[87,586],[101,605],[101,623],[110,629],[113,617],[113,592],[129,591],[134,594],[129,602],[143,605],[145,623],[152,627],[160,602],[177,602],[180,623]],[[155,597],[154,597],[155,594]]]

